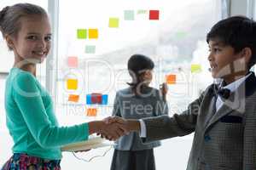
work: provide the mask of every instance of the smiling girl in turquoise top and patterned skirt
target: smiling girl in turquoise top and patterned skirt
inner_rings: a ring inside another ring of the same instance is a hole
[[[36,78],[36,65],[50,49],[49,18],[43,8],[18,3],[0,11],[0,28],[15,63],[5,89],[6,120],[14,140],[14,155],[5,163],[9,169],[61,169],[61,145],[88,139],[102,133],[117,139],[124,130],[119,124],[89,122],[58,127],[52,99]]]

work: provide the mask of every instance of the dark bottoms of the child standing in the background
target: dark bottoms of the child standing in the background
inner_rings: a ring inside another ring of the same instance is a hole
[[[114,150],[111,170],[155,170],[154,150]]]

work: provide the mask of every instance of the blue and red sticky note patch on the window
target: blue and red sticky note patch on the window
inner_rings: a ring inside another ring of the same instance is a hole
[[[108,105],[108,94],[87,94],[87,105]]]

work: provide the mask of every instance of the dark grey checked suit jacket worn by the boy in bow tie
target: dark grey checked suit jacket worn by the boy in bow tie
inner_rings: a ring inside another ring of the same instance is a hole
[[[255,170],[255,75],[252,72],[217,112],[213,87],[209,86],[180,115],[143,119],[147,129],[143,141],[195,132],[187,170]],[[172,162],[169,165],[171,168]]]

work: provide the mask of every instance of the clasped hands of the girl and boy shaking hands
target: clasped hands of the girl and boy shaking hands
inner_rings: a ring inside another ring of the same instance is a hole
[[[110,116],[102,121],[89,122],[89,132],[97,133],[102,138],[116,140],[131,132],[140,131],[140,122],[133,119],[124,119],[119,116]]]

